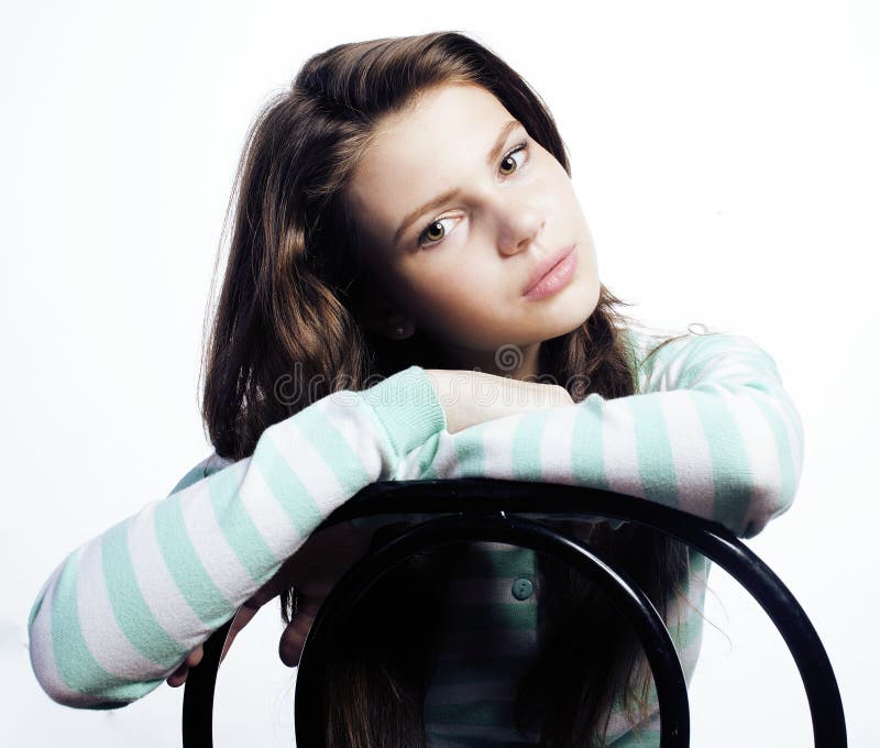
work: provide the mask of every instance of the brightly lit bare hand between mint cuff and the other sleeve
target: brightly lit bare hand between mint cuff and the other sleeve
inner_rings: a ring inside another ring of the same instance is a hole
[[[524,382],[470,370],[428,369],[450,433],[537,408],[574,405],[562,385]]]

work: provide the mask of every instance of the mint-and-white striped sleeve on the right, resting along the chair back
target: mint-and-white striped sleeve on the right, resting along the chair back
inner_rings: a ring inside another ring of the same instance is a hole
[[[645,353],[645,338],[632,340]],[[715,520],[745,538],[788,509],[803,429],[766,351],[744,336],[690,333],[637,361],[636,371],[631,396],[592,394],[573,406],[437,433],[406,455],[398,476],[602,488]]]

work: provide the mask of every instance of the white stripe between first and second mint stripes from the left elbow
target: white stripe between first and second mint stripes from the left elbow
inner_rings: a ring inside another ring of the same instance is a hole
[[[117,624],[107,594],[100,541],[88,543],[76,575],[79,628],[95,661],[114,678],[146,681],[164,670],[136,650]]]

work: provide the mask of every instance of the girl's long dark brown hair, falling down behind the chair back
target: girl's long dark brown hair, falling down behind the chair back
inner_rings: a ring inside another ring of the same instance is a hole
[[[411,364],[439,367],[436,346],[418,331],[392,342],[359,323],[365,276],[344,195],[377,123],[449,81],[492,92],[571,175],[540,97],[464,34],[342,44],[310,57],[261,111],[239,164],[229,258],[205,360],[202,417],[220,457],[252,454],[268,426],[343,386],[359,389]],[[623,332],[630,320],[620,305],[629,306],[602,285],[590,318],[541,346],[540,373],[566,383],[575,402],[637,392],[640,362]],[[591,543],[666,615],[686,573],[681,543],[634,524],[596,525]],[[330,668],[327,745],[426,745],[422,703],[442,626],[435,610],[439,570],[455,552],[413,559],[364,601]],[[548,625],[541,656],[520,683],[518,727],[539,728],[556,746],[602,743],[615,700],[634,724],[645,717],[650,672],[631,630],[587,580],[543,557],[539,574]],[[289,608],[288,592],[286,622]],[[591,649],[591,642],[603,644]]]

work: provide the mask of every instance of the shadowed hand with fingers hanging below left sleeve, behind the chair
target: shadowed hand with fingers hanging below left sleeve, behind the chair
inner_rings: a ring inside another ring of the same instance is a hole
[[[239,631],[250,623],[256,612],[295,585],[299,590],[298,608],[296,616],[282,634],[278,656],[288,668],[296,667],[318,609],[342,574],[370,550],[371,540],[372,531],[360,530],[350,522],[333,525],[310,535],[273,578],[239,608],[227,634],[220,662]],[[168,685],[177,688],[185,683],[189,668],[195,668],[201,661],[202,654],[202,646],[199,645],[166,679]]]

